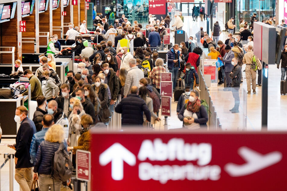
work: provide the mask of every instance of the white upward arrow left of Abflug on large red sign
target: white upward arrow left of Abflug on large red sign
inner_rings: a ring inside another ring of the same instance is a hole
[[[136,165],[136,156],[120,143],[116,142],[100,154],[99,161],[102,166],[106,166],[112,162],[113,180],[123,180],[123,161],[134,166]]]

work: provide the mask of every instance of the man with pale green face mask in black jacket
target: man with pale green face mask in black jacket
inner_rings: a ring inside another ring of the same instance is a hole
[[[86,114],[91,115],[95,123],[96,113],[95,113],[94,105],[91,103],[90,100],[85,99],[85,90],[83,88],[76,89],[76,98],[78,98],[81,101]]]

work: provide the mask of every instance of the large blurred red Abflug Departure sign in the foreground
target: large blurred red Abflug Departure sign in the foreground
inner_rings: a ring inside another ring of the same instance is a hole
[[[131,130],[91,136],[91,190],[287,189],[286,132]]]

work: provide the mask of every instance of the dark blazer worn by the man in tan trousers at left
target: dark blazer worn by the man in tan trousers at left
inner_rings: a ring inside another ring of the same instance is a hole
[[[24,118],[16,135],[16,152],[15,157],[18,158],[15,168],[31,168],[33,164],[30,162],[30,146],[33,135],[36,133],[36,127],[32,120],[28,117]]]

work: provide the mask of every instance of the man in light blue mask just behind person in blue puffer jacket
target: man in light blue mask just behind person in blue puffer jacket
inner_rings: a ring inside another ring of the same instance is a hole
[[[48,102],[48,114],[54,116],[54,123],[59,124],[65,131],[65,139],[68,139],[69,121],[62,109],[58,108],[58,103],[55,100]]]

